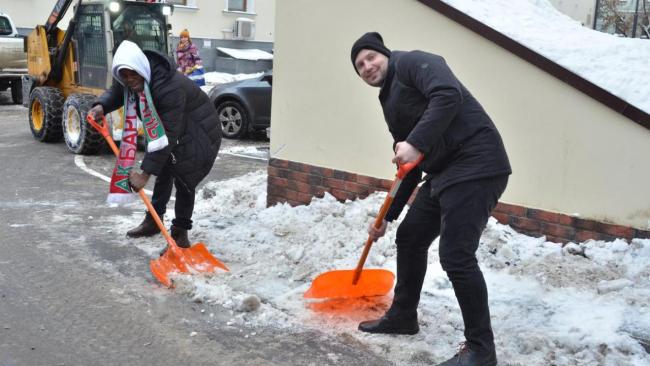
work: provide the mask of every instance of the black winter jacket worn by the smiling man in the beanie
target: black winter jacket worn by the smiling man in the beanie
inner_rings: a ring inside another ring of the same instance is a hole
[[[399,216],[423,171],[431,179],[431,194],[455,183],[512,173],[494,123],[442,57],[393,51],[379,101],[393,147],[407,141],[424,153],[420,166],[404,179],[386,220]]]

